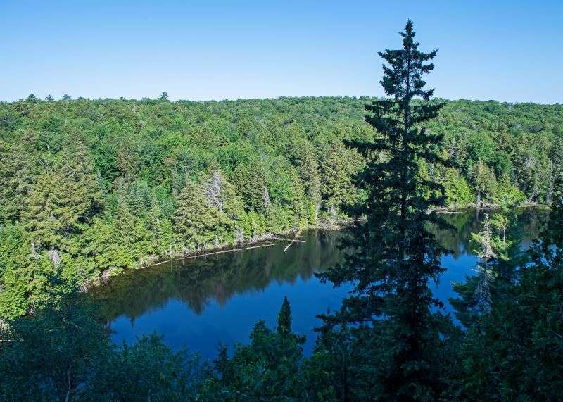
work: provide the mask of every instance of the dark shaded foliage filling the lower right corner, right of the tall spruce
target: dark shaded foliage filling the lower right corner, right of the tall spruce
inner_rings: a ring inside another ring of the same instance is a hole
[[[559,398],[563,385],[563,341],[559,337],[563,330],[563,217],[557,204],[554,211],[541,241],[527,255],[522,256],[516,246],[509,258],[488,261],[488,310],[472,314],[476,306],[473,289],[479,284],[479,277],[456,286],[462,300],[455,306],[468,329],[458,344],[457,359],[461,364],[450,377],[452,398]]]

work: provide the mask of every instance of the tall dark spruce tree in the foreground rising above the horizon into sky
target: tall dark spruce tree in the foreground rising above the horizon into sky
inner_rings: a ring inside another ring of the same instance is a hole
[[[364,353],[350,375],[355,398],[377,400],[431,400],[440,393],[438,346],[441,315],[433,313],[441,303],[429,282],[443,272],[443,249],[429,232],[429,224],[441,220],[432,208],[444,203],[440,184],[421,177],[419,163],[445,163],[438,155],[441,135],[422,124],[435,118],[443,103],[431,101],[433,89],[424,89],[422,75],[434,64],[436,50],[422,53],[407,22],[403,48],[379,55],[383,66],[381,85],[388,98],[366,106],[366,120],[374,139],[348,141],[367,158],[367,167],[356,184],[367,199],[355,206],[359,222],[344,242],[351,248],[346,263],[321,276],[339,286],[353,284],[352,294],[339,313],[323,316],[325,326],[353,324],[356,347]],[[350,389],[351,387],[343,387]],[[350,396],[343,396],[350,398]]]

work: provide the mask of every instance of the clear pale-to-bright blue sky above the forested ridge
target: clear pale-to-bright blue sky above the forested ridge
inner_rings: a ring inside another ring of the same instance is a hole
[[[407,18],[437,96],[563,103],[562,0],[0,0],[0,101],[381,95]]]

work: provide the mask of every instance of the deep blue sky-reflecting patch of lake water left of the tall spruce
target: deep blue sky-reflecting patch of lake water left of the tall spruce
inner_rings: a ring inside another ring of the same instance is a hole
[[[248,341],[257,320],[265,320],[274,327],[277,312],[284,296],[288,296],[293,312],[293,330],[307,335],[305,351],[315,343],[312,327],[320,325],[315,315],[327,308],[339,308],[346,296],[345,289],[333,291],[318,279],[297,278],[293,283],[274,280],[260,291],[248,291],[232,296],[226,302],[211,299],[203,313],[196,313],[179,298],[172,297],[158,309],[148,310],[135,320],[120,315],[111,327],[114,341],[132,341],[141,334],[158,332],[165,335],[167,344],[187,347],[206,358],[216,356],[217,346]]]

